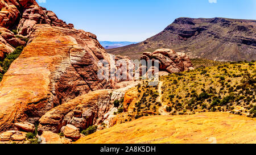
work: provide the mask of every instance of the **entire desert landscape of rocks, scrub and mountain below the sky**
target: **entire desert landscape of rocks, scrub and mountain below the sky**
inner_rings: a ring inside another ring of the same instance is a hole
[[[105,49],[35,0],[0,8],[0,144],[256,143],[256,20],[177,18]]]

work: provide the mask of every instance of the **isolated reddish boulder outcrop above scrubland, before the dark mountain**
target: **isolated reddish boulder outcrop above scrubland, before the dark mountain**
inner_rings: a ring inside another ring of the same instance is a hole
[[[155,52],[144,52],[141,60],[158,60],[159,71],[178,73],[193,70],[189,57],[182,52],[174,52],[172,49],[157,49]]]

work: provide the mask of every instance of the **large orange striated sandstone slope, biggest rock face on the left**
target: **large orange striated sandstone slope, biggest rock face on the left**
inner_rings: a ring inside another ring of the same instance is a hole
[[[35,123],[61,103],[113,87],[98,79],[99,59],[109,60],[109,55],[92,33],[36,25],[0,83],[0,129],[17,121]]]

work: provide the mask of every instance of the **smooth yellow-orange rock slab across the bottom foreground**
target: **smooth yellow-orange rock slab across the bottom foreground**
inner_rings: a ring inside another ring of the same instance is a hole
[[[253,144],[256,120],[225,112],[147,116],[115,125],[77,144]]]

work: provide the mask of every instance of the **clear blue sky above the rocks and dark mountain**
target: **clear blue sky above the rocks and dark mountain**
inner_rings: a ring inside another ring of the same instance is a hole
[[[256,0],[45,1],[39,5],[101,41],[143,41],[179,17],[256,19]]]

